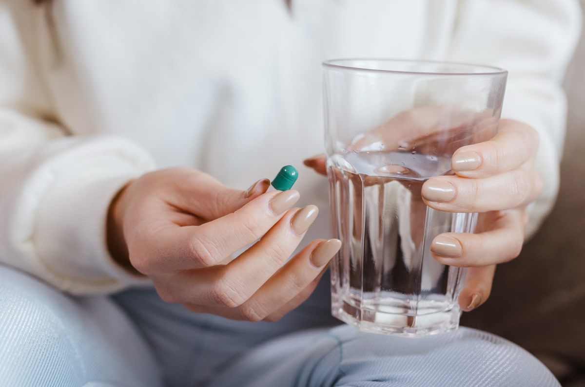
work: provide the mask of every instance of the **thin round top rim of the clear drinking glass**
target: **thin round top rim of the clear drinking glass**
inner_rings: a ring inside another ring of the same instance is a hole
[[[349,61],[364,61],[364,62],[386,62],[386,63],[414,63],[414,64],[442,64],[442,65],[457,65],[476,69],[486,69],[492,71],[482,72],[441,72],[441,71],[405,71],[405,70],[383,70],[380,68],[366,68],[357,67],[347,64],[340,64],[342,62]],[[380,72],[387,74],[419,74],[419,75],[467,75],[467,76],[494,76],[494,75],[506,75],[508,70],[501,67],[495,67],[487,64],[473,64],[463,62],[451,62],[451,61],[437,61],[437,60],[419,60],[419,59],[395,59],[395,58],[339,58],[326,60],[322,63],[323,67],[338,68],[340,70],[350,71],[367,71],[367,72]]]

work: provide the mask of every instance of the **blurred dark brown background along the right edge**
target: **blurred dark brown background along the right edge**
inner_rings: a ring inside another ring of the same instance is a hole
[[[556,206],[520,257],[498,267],[490,300],[462,324],[531,351],[563,386],[585,387],[585,34],[565,90],[569,118]]]

